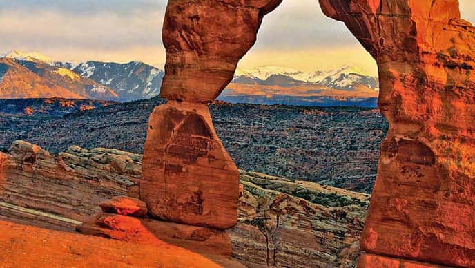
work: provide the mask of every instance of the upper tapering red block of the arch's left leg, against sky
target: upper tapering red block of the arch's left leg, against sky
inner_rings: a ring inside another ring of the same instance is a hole
[[[168,1],[161,96],[213,102],[253,46],[262,17],[282,0]]]

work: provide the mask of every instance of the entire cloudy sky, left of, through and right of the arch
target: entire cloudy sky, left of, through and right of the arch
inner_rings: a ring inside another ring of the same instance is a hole
[[[460,0],[475,22],[475,1]],[[0,53],[40,52],[57,61],[144,61],[161,68],[166,0],[0,0]],[[317,0],[284,0],[264,17],[242,68],[327,70],[376,64],[347,28],[325,17]]]

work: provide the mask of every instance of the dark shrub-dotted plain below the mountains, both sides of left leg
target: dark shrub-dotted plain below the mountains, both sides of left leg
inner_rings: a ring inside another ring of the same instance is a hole
[[[3,151],[21,139],[54,153],[72,144],[142,153],[148,114],[163,103],[149,99],[77,113],[58,109],[68,113],[57,115],[37,102],[3,101]],[[48,113],[25,116],[26,107]],[[371,193],[387,128],[378,111],[222,103],[210,108],[217,134],[240,169]]]

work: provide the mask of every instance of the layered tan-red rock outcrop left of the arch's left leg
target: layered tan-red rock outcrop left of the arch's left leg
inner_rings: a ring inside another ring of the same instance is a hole
[[[78,146],[56,156],[16,141],[8,154],[0,153],[0,202],[84,221],[112,196],[138,197],[141,160],[141,155]],[[0,209],[0,215],[10,213]]]

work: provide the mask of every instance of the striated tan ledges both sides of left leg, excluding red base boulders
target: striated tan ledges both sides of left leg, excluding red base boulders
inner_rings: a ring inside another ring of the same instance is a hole
[[[138,196],[141,160],[142,155],[124,151],[78,146],[50,155],[39,146],[14,142],[8,154],[0,153],[0,219],[72,231],[99,213],[99,203],[117,195]],[[234,258],[249,267],[356,265],[369,195],[240,173],[239,222],[228,231]]]

